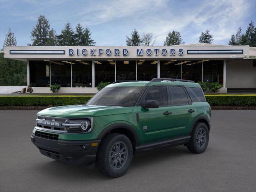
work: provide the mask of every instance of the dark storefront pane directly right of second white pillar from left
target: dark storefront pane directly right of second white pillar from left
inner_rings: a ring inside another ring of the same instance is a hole
[[[95,86],[100,82],[114,82],[115,81],[115,61],[95,61]]]

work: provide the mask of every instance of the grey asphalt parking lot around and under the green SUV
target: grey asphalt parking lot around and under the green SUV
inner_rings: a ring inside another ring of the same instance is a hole
[[[207,150],[160,149],[134,156],[116,179],[47,158],[31,143],[37,111],[0,111],[1,192],[256,191],[256,111],[213,110]]]

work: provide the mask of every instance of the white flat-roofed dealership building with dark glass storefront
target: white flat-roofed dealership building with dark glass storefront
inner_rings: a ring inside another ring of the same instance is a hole
[[[256,89],[256,48],[214,44],[177,46],[4,46],[4,57],[27,62],[35,93],[96,93],[100,82],[175,78]]]

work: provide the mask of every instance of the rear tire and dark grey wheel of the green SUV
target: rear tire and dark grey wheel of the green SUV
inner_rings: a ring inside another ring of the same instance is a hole
[[[187,146],[193,153],[202,153],[206,150],[209,142],[209,130],[206,124],[198,122],[191,133],[191,139]]]

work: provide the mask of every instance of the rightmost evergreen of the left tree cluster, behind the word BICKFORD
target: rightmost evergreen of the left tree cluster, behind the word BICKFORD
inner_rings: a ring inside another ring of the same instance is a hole
[[[76,26],[76,33],[74,34],[75,42],[77,46],[92,46],[95,45],[96,42],[90,38],[91,32],[89,28],[86,26],[84,29],[82,25],[79,23]]]

